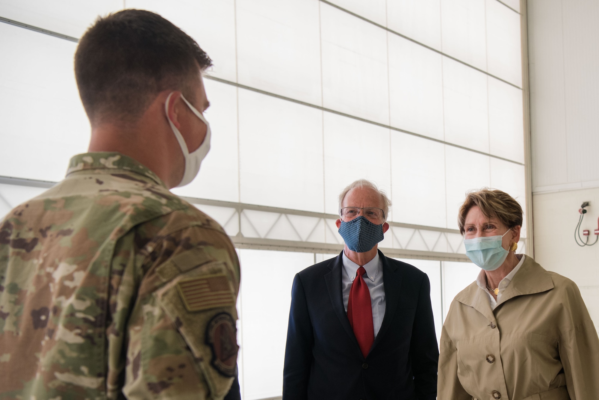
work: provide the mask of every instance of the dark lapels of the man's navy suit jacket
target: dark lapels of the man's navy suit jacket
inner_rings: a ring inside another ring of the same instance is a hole
[[[385,254],[379,250],[379,258],[383,265],[383,286],[385,287],[385,316],[374,340],[373,349],[379,343],[385,332],[389,329],[391,321],[397,309],[397,304],[400,299],[400,286],[401,286],[401,274],[398,271],[397,266],[389,263]],[[356,336],[353,334],[352,326],[349,325],[349,319],[345,313],[345,307],[343,306],[343,292],[341,290],[341,273],[343,270],[343,250],[335,259],[329,264],[330,271],[325,274],[326,288],[329,292],[329,297],[337,314],[337,318],[341,325],[349,335],[350,339],[355,343],[355,348],[358,354],[362,357],[362,352],[356,340]],[[372,351],[372,349],[371,349]]]

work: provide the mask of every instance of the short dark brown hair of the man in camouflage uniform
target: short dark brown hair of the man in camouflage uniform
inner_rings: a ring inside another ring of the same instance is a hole
[[[173,23],[146,10],[99,17],[75,52],[75,78],[90,122],[135,122],[153,98],[180,90],[195,101],[198,66],[210,57]]]

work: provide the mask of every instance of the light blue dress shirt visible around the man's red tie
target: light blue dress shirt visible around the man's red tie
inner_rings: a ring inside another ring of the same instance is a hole
[[[349,291],[352,289],[353,280],[356,278],[360,266],[350,260],[343,251],[343,273],[341,274],[341,290],[343,290],[343,305],[347,313]],[[373,308],[374,338],[379,334],[380,325],[385,317],[385,286],[383,286],[383,263],[379,253],[364,265],[366,273],[364,281],[370,292],[370,302]]]

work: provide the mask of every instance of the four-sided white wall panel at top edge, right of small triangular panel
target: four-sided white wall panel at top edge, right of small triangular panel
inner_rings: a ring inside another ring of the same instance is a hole
[[[426,46],[441,50],[440,8],[440,0],[388,1],[387,26]]]

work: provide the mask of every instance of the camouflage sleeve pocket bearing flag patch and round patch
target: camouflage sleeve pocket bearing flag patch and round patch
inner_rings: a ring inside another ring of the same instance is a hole
[[[237,373],[236,296],[223,262],[208,262],[161,287],[158,303],[174,321],[213,398],[226,395]]]

